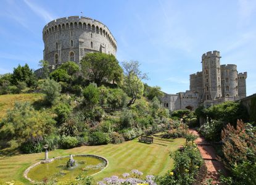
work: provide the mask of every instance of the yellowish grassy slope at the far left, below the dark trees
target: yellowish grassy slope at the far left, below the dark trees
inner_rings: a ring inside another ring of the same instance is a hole
[[[15,102],[33,102],[43,99],[43,94],[6,94],[0,96],[0,120],[6,115],[8,109],[12,109]]]

